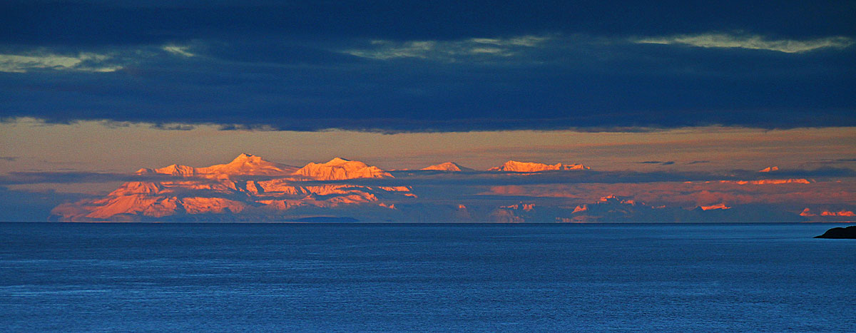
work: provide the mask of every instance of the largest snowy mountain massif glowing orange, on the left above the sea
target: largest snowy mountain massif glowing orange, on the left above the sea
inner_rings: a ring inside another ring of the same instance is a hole
[[[104,198],[59,205],[52,211],[52,219],[169,220],[196,214],[226,213],[266,219],[300,207],[372,205],[372,208],[388,210],[390,206],[379,202],[380,199],[415,197],[410,187],[304,184],[306,181],[392,177],[383,169],[342,158],[297,169],[241,154],[229,164],[205,168],[173,164],[158,169],[140,169],[137,175],[175,177],[167,181],[126,182]],[[245,179],[247,176],[255,176],[256,179]]]

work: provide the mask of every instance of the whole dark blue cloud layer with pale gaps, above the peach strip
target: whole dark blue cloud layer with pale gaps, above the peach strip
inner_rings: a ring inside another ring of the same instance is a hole
[[[853,2],[7,1],[0,116],[432,132],[856,124]]]

